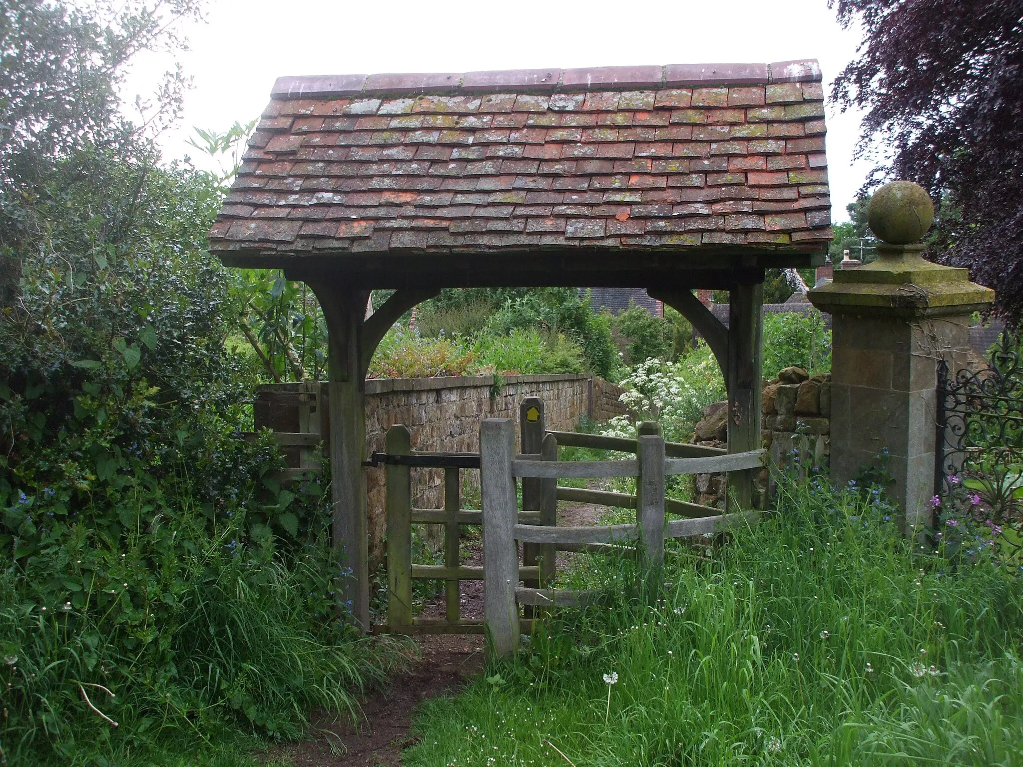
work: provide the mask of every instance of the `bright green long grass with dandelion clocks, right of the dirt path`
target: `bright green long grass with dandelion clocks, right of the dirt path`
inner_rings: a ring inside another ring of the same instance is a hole
[[[1023,764],[1019,579],[921,555],[888,511],[783,484],[728,545],[673,545],[658,595],[580,560],[603,605],[427,704],[405,764]]]

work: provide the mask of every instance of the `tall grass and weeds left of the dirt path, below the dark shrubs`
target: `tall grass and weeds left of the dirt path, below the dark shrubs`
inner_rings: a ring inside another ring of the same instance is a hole
[[[328,549],[285,562],[230,527],[188,527],[166,549],[160,530],[122,549],[83,535],[49,552],[48,573],[0,574],[8,764],[232,764],[247,734],[298,737],[312,710],[354,714],[354,694],[408,658],[312,615]],[[35,585],[74,586],[61,571],[88,585],[53,603]]]

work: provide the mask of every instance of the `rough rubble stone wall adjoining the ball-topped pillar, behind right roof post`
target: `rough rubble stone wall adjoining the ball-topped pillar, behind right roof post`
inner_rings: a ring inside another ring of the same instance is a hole
[[[801,367],[787,367],[779,377],[766,381],[761,398],[761,435],[775,465],[793,462],[794,450],[806,454],[803,460],[827,466],[831,456],[831,373],[809,376]],[[727,448],[727,401],[715,402],[704,411],[692,442]],[[768,477],[761,476],[766,488]],[[697,475],[695,502],[723,506],[726,494],[724,475]]]

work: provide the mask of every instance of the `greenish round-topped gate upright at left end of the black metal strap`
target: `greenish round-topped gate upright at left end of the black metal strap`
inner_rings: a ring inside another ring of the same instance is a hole
[[[409,455],[412,436],[401,423],[387,431],[385,450]],[[391,629],[412,625],[412,482],[409,466],[389,463],[387,482],[387,620]]]

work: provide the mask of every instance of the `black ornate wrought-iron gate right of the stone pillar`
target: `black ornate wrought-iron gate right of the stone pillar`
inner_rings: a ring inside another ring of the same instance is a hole
[[[1019,337],[1003,333],[976,370],[950,375],[947,363],[938,363],[934,495],[943,500],[968,487],[978,501],[972,505],[997,524],[1023,513],[1019,344]]]

